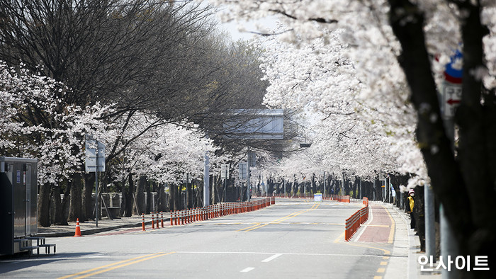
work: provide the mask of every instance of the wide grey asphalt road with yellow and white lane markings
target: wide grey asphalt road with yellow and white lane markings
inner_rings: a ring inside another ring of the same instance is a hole
[[[278,200],[183,226],[47,239],[56,255],[0,261],[2,278],[373,278],[390,243],[344,241],[359,203]]]

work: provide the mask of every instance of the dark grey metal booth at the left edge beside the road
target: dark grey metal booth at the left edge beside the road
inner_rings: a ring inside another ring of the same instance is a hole
[[[39,249],[37,164],[0,156],[0,255]]]

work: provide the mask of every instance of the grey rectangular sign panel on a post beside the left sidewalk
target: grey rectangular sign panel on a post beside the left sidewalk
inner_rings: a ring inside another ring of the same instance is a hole
[[[98,227],[98,171],[105,171],[105,144],[86,135],[86,172],[95,172],[95,224]]]

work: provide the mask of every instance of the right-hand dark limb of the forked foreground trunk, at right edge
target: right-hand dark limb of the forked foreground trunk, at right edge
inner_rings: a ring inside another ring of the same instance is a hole
[[[496,109],[495,91],[483,92],[483,81],[474,72],[485,67],[483,38],[489,34],[482,25],[480,1],[457,3],[468,14],[461,22],[463,40],[463,84],[460,107],[455,115],[459,127],[458,162],[468,192],[473,227],[460,236],[461,254],[489,256],[490,273],[474,278],[496,278]],[[444,203],[443,203],[444,205]],[[451,212],[451,219],[457,212]],[[492,275],[490,275],[492,274]]]

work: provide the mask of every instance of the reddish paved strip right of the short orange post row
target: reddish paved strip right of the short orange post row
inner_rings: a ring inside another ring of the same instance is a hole
[[[395,223],[381,205],[370,205],[368,222],[362,224],[363,232],[357,241],[393,243]]]

